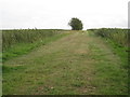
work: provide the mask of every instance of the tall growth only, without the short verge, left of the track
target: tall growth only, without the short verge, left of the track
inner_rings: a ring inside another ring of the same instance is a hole
[[[21,30],[3,30],[2,31],[2,50],[5,51],[17,43],[34,43],[42,41],[48,37],[60,33],[57,30],[51,29],[21,29]]]

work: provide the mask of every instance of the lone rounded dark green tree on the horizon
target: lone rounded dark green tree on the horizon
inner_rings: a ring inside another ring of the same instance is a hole
[[[72,27],[73,30],[82,30],[82,23],[80,19],[78,19],[77,17],[73,17],[68,25]]]

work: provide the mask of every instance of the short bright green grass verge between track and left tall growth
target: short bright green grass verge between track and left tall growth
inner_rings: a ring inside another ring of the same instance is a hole
[[[4,63],[5,60],[9,60],[13,57],[17,57],[20,55],[27,54],[40,45],[46,45],[47,43],[55,41],[67,34],[69,34],[69,33],[60,33],[60,34],[49,37],[43,40],[34,42],[34,43],[17,43],[2,53],[2,61]]]

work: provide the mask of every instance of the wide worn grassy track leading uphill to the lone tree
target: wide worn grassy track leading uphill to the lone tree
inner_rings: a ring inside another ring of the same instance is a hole
[[[101,38],[75,32],[5,61],[3,94],[127,94],[121,64]]]

